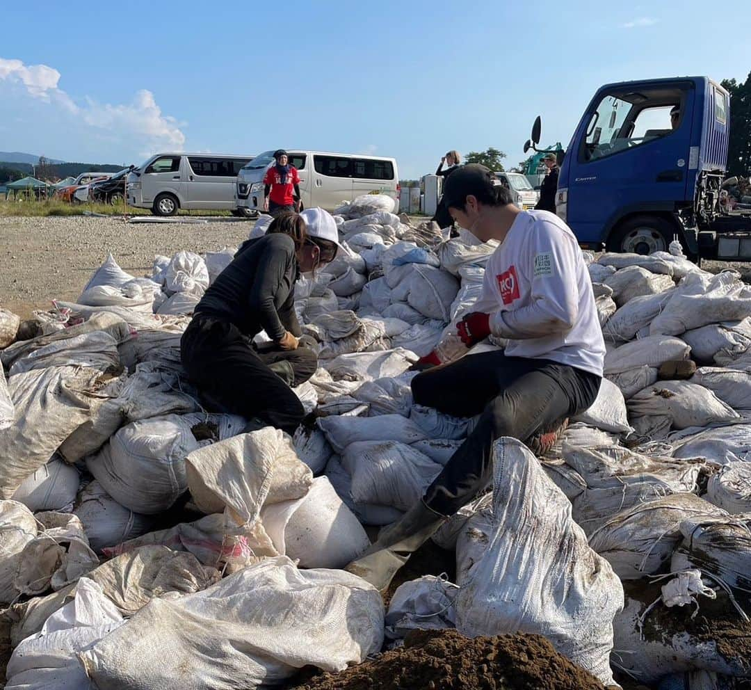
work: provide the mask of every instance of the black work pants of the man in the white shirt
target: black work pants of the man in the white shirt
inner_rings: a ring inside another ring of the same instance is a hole
[[[428,487],[424,502],[436,513],[454,514],[490,482],[491,448],[501,436],[528,441],[586,410],[602,378],[550,360],[469,354],[412,379],[412,396],[454,417],[480,414],[475,429]]]

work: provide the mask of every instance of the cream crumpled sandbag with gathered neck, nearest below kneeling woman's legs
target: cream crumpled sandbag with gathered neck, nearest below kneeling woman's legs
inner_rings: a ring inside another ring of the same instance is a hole
[[[188,487],[201,511],[229,508],[248,526],[258,520],[264,502],[300,499],[313,480],[291,438],[273,426],[192,450],[186,465]]]

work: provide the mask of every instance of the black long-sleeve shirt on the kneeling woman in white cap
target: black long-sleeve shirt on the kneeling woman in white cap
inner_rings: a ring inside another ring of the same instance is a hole
[[[294,313],[294,283],[300,276],[294,241],[273,233],[249,240],[210,285],[195,314],[223,318],[252,337],[261,330],[275,341],[285,330],[303,333]]]

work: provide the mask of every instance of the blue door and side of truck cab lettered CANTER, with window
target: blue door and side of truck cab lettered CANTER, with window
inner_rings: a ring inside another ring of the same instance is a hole
[[[567,220],[580,242],[605,241],[613,218],[686,199],[693,103],[685,85],[602,94],[567,153]]]

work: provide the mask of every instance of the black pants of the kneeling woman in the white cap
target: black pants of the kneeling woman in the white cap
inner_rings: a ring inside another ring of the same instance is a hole
[[[180,341],[182,366],[189,378],[224,411],[294,433],[305,416],[290,386],[307,381],[318,367],[306,347],[258,351],[236,326],[197,315]]]

